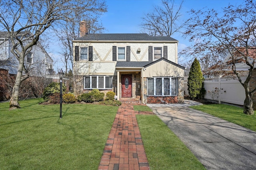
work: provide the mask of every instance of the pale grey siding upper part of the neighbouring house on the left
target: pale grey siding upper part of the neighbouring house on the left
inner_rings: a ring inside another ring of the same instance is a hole
[[[9,74],[17,74],[18,60],[11,53],[12,43],[7,32],[0,32],[0,68],[8,70]],[[18,47],[19,48],[19,47]],[[53,72],[53,60],[38,42],[25,57],[24,66],[30,76],[46,76]]]

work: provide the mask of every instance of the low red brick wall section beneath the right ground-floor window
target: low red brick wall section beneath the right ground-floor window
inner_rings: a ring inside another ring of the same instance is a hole
[[[148,104],[176,104],[178,96],[148,96]]]

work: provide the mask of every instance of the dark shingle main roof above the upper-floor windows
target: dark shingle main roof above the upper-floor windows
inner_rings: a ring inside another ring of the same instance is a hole
[[[146,33],[102,33],[87,34],[75,40],[86,41],[177,41],[168,36],[149,36]]]

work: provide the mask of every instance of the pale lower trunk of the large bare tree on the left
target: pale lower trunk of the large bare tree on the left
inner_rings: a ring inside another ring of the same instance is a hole
[[[18,100],[19,100],[19,94],[20,94],[20,82],[21,82],[23,66],[24,66],[24,59],[20,57],[18,72],[16,75],[14,86],[12,88],[12,96],[9,103],[10,105],[9,110],[20,108],[20,104]]]

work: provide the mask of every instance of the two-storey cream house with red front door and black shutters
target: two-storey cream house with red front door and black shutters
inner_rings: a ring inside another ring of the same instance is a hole
[[[80,29],[81,30],[81,29]],[[73,40],[74,92],[113,91],[118,100],[184,102],[178,41],[146,33],[86,34]]]

